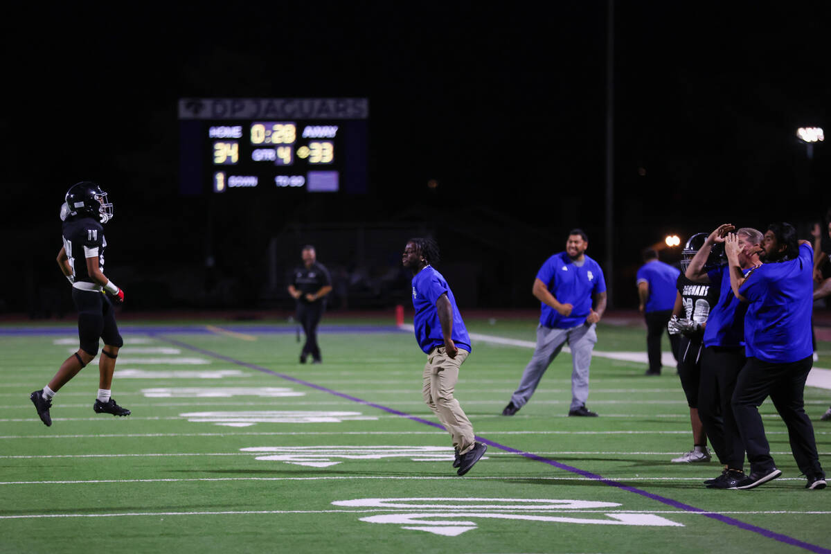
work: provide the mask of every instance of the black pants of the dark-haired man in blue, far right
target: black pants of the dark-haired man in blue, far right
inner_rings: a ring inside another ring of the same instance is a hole
[[[810,355],[787,364],[747,359],[735,385],[733,413],[739,424],[751,471],[765,472],[774,468],[774,458],[770,456],[770,445],[759,414],[759,406],[768,396],[788,426],[790,450],[799,470],[805,474],[822,471],[814,427],[805,414],[803,400],[805,380],[811,365],[814,365],[814,360]]]

